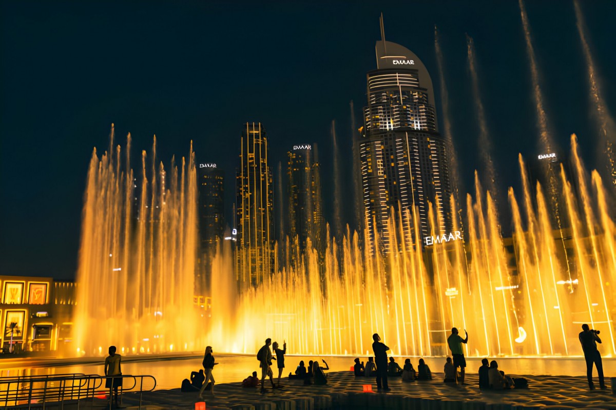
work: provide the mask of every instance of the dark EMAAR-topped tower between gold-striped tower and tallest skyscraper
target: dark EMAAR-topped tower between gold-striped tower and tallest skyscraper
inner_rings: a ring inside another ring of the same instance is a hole
[[[324,225],[317,146],[294,145],[287,158],[288,235],[301,250],[310,239],[310,246],[320,251]]]

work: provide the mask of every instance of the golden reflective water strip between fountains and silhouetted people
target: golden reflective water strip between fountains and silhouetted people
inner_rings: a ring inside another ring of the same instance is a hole
[[[214,369],[214,377],[217,383],[241,382],[253,371],[259,373],[259,362],[254,355],[216,355],[219,363]],[[349,371],[353,365],[354,357],[341,356],[294,356],[287,355],[286,368],[283,376],[288,376],[293,372],[300,360],[308,363],[309,360],[325,359],[330,366],[330,371]],[[402,366],[405,357],[396,357],[396,361]],[[125,361],[122,363],[123,374],[150,374],[156,378],[156,389],[179,388],[182,379],[188,379],[191,371],[201,368],[201,357],[188,359],[167,359],[155,361]],[[366,357],[361,357],[362,361],[367,361]],[[433,373],[442,373],[445,358],[424,358]],[[413,366],[417,367],[418,357],[411,358]],[[533,375],[562,375],[584,376],[586,367],[582,358],[577,359],[545,359],[545,358],[498,358],[499,368],[511,374],[533,374]],[[612,368],[614,360],[604,359],[604,367]],[[480,358],[467,358],[467,373],[476,373],[479,369]],[[275,366],[275,364],[274,364]],[[71,366],[46,366],[42,368],[15,368],[0,370],[0,377],[16,376],[17,374],[60,374],[60,373],[84,373],[102,374],[103,361],[100,365],[71,365]],[[275,376],[278,372],[274,369]],[[284,381],[282,381],[284,383]],[[144,386],[145,387],[145,386]],[[239,388],[239,387],[238,387]]]

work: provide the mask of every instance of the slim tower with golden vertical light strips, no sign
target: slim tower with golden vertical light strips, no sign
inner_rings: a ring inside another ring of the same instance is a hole
[[[261,123],[246,123],[237,170],[237,266],[240,286],[257,285],[274,267],[274,181],[267,134]]]

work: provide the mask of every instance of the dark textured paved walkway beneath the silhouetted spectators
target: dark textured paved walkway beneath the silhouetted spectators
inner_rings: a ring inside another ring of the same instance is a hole
[[[444,384],[435,374],[429,382],[402,383],[399,377],[389,380],[389,393],[363,393],[362,385],[375,379],[354,377],[352,372],[333,372],[326,386],[305,386],[299,380],[282,379],[283,389],[242,388],[239,383],[217,384],[216,396],[206,392],[206,409],[234,410],[313,410],[313,409],[402,409],[402,410],[517,410],[517,409],[616,409],[616,395],[608,390],[588,390],[585,377],[524,376],[529,389],[503,392],[477,388],[477,376],[467,376],[465,385]],[[515,375],[512,375],[516,377]],[[595,382],[598,385],[598,382]],[[607,379],[610,387],[609,379]],[[145,393],[144,409],[195,409],[197,393],[179,389]],[[124,395],[124,405],[133,409],[139,398]],[[83,408],[83,407],[82,407]]]

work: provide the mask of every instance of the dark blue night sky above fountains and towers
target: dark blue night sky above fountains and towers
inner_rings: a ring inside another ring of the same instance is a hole
[[[107,148],[112,122],[117,141],[131,132],[133,154],[156,134],[169,164],[193,140],[199,162],[216,162],[232,177],[241,126],[260,121],[274,167],[293,144],[318,143],[331,203],[331,120],[348,190],[349,101],[359,126],[381,12],[386,39],[430,71],[442,124],[439,27],[466,187],[481,164],[464,34],[473,37],[499,185],[519,184],[517,152],[537,154],[537,128],[517,1],[260,3],[0,2],[0,274],[74,277],[87,164],[92,148]],[[593,165],[596,127],[573,3],[526,7],[554,138],[566,148],[578,133]],[[582,10],[614,113],[616,2],[586,1]],[[228,178],[227,191],[233,184]],[[352,216],[348,197],[344,218]]]

